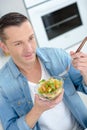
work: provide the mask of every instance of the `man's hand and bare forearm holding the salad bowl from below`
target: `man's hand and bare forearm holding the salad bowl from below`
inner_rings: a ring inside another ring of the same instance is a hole
[[[35,95],[35,103],[31,111],[25,116],[25,121],[29,125],[30,128],[33,128],[38,121],[41,114],[55,107],[58,103],[60,103],[63,99],[64,90],[62,93],[54,100],[42,100],[38,95]]]

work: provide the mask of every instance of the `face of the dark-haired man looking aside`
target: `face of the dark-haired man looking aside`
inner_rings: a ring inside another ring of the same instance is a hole
[[[26,21],[20,26],[11,26],[4,30],[6,34],[6,48],[14,62],[20,67],[21,64],[30,65],[36,57],[36,41],[31,24]]]

